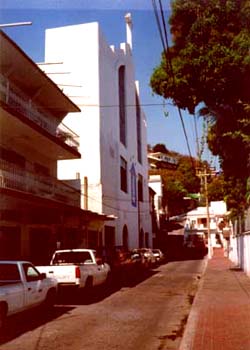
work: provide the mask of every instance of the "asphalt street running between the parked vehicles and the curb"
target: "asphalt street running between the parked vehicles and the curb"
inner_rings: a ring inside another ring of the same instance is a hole
[[[11,317],[1,350],[178,349],[205,260],[162,265],[137,281],[69,294],[45,314]]]

